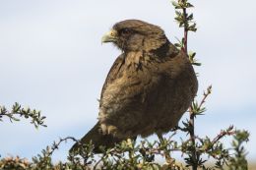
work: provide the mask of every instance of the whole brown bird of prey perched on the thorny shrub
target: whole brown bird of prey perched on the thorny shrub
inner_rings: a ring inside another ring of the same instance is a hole
[[[164,31],[139,20],[119,22],[102,37],[121,51],[101,90],[96,126],[82,138],[98,146],[174,128],[196,95],[194,69]],[[71,150],[77,149],[75,143]]]

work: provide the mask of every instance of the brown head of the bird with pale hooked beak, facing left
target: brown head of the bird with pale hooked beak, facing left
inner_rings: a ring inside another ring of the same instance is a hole
[[[151,51],[167,42],[164,31],[139,20],[125,20],[115,24],[102,36],[101,42],[113,42],[124,52]]]

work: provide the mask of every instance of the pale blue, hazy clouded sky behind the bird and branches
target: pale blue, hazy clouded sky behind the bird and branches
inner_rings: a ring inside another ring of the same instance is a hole
[[[198,98],[213,85],[196,134],[215,137],[229,125],[248,130],[248,158],[256,160],[256,1],[190,2],[198,31],[189,33],[188,48],[203,63],[195,68]],[[101,45],[101,36],[119,21],[139,19],[163,28],[174,43],[182,30],[173,18],[169,0],[1,0],[0,105],[40,110],[48,126],[4,119],[1,156],[30,158],[59,138],[84,136],[96,124],[101,86],[120,54]],[[55,159],[65,159],[71,145],[61,145]]]

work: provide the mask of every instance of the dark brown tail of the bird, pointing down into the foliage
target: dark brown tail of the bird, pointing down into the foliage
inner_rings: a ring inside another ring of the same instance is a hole
[[[111,135],[103,135],[99,131],[99,123],[97,122],[95,127],[80,140],[80,143],[89,143],[92,141],[95,146],[94,152],[100,153],[100,150],[99,150],[100,145],[103,145],[106,148],[110,148],[110,147],[113,147],[115,143],[122,142],[122,140],[124,139],[114,138]],[[69,151],[77,150],[80,145],[81,144],[76,142]]]

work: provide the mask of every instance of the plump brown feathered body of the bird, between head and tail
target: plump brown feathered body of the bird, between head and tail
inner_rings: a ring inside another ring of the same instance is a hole
[[[188,66],[182,52],[162,59],[136,52],[117,58],[101,91],[102,132],[125,138],[152,134],[160,120],[166,120],[161,121],[162,132],[175,126],[191,101],[188,92],[194,72]]]

